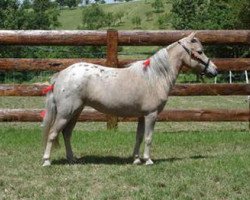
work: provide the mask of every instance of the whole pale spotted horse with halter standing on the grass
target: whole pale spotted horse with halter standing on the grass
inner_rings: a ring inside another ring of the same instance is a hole
[[[142,159],[153,164],[150,146],[157,115],[163,110],[169,92],[183,64],[200,73],[216,76],[213,62],[204,54],[195,33],[190,34],[146,61],[137,61],[127,68],[114,69],[91,63],[76,63],[52,78],[53,90],[47,94],[44,118],[45,152],[43,166],[50,165],[52,144],[63,133],[66,156],[73,162],[70,138],[84,106],[126,117],[138,117],[134,164]],[[140,145],[145,138],[143,158]]]

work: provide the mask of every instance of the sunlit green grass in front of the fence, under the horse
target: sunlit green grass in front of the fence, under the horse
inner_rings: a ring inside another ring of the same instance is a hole
[[[156,132],[154,166],[133,166],[134,134],[121,130],[73,135],[79,163],[64,148],[41,167],[40,128],[2,126],[1,199],[249,199],[248,131]]]

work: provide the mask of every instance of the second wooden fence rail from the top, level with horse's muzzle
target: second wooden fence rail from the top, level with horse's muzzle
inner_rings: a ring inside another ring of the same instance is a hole
[[[135,62],[132,59],[119,60],[118,68],[123,68],[129,63]],[[250,58],[216,58],[212,61],[220,72],[224,71],[245,71],[250,70]],[[61,71],[71,64],[77,62],[89,62],[98,65],[106,65],[106,59],[28,59],[28,58],[0,58],[0,70],[3,71]],[[188,69],[184,67],[183,72]]]

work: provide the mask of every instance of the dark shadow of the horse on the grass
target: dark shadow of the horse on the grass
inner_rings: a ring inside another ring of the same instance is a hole
[[[203,155],[195,155],[190,157],[184,157],[184,158],[164,158],[164,159],[153,159],[154,163],[162,163],[162,162],[176,162],[176,161],[182,161],[187,159],[208,159],[211,158],[211,156],[203,156]],[[132,157],[118,157],[118,156],[83,156],[81,158],[77,158],[74,163],[69,163],[67,159],[58,159],[53,160],[52,165],[84,165],[84,164],[106,164],[106,165],[124,165],[124,164],[132,164],[133,158]]]

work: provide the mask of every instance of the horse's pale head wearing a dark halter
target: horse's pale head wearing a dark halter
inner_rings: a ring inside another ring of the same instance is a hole
[[[200,74],[205,74],[210,77],[217,75],[217,67],[205,55],[200,41],[195,37],[195,33],[178,41],[178,44],[183,49],[183,62],[192,69],[195,69]]]

